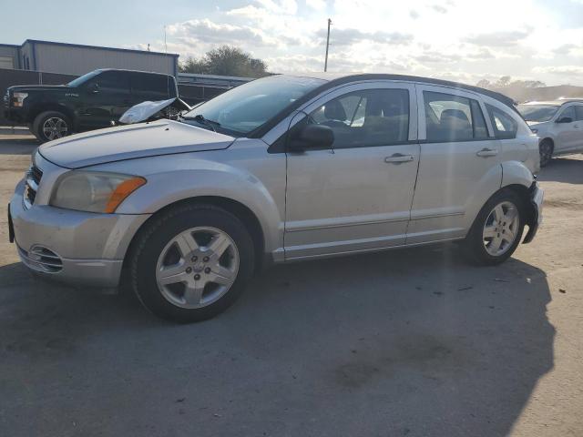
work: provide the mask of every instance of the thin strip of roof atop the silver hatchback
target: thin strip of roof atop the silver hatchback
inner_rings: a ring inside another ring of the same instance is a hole
[[[343,83],[361,80],[401,80],[406,82],[417,82],[428,85],[448,86],[457,89],[463,89],[466,91],[472,91],[475,93],[483,94],[488,97],[492,97],[515,111],[516,111],[515,106],[517,105],[517,102],[515,102],[512,98],[507,97],[504,94],[497,93],[496,91],[491,91],[489,89],[481,88],[479,86],[466,85],[460,82],[435,79],[433,77],[394,75],[388,73],[304,73],[304,74],[290,74],[284,76],[313,77],[316,79],[322,79],[327,81],[328,86],[325,87],[341,85]]]

